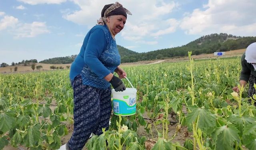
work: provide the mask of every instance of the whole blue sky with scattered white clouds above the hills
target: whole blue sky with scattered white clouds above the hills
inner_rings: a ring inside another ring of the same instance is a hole
[[[0,0],[0,63],[78,54],[113,0]],[[135,52],[212,33],[256,36],[255,0],[119,0],[130,12],[116,43]]]

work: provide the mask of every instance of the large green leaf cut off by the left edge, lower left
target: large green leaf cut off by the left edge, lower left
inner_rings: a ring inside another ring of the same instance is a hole
[[[0,112],[0,120],[0,131],[4,133],[13,128],[16,123],[13,111]]]

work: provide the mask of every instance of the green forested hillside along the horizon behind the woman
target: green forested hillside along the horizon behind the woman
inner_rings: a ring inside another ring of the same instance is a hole
[[[237,50],[246,48],[251,43],[256,42],[256,36],[254,37],[241,37],[233,36],[231,34],[220,33],[210,34],[202,36],[186,45],[165,48],[161,50],[154,50],[150,52],[138,53],[132,50],[128,50],[118,45],[119,54],[121,56],[121,62],[137,62],[143,60],[155,60],[165,59],[172,57],[188,56],[188,51],[192,51],[192,54],[210,54],[213,52],[224,52],[228,50]],[[40,63],[46,64],[68,64],[74,61],[76,55],[50,58],[43,60]]]

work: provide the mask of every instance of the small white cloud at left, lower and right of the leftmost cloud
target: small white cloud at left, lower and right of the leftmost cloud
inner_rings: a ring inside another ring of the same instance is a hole
[[[32,38],[45,33],[50,33],[45,22],[32,22],[32,24],[25,23],[15,30],[14,38]]]

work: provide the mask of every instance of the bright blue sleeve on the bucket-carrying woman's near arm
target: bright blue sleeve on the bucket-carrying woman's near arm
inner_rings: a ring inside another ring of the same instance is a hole
[[[99,78],[104,78],[110,74],[110,70],[108,70],[99,60],[100,55],[105,49],[105,33],[102,29],[96,28],[92,31],[88,39],[88,43],[84,52],[84,62]]]

